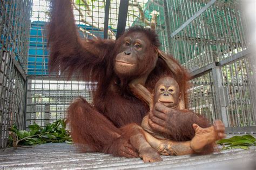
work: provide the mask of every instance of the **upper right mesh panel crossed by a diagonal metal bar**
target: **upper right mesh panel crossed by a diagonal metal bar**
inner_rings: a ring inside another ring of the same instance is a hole
[[[239,1],[207,6],[211,2],[215,1],[167,1],[171,53],[187,69],[198,69],[247,49]],[[199,16],[193,18],[196,13]]]

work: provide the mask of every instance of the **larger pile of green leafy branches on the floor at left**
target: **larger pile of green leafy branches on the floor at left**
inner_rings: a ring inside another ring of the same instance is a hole
[[[53,142],[71,143],[70,132],[66,130],[64,119],[46,125],[44,128],[37,124],[29,125],[30,131],[18,130],[16,126],[10,128],[9,145],[29,146]]]

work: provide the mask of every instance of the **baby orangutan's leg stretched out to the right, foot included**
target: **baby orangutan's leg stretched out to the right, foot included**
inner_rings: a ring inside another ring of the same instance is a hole
[[[193,153],[211,153],[215,141],[224,138],[225,127],[220,121],[216,121],[214,126],[201,128],[193,124],[195,136],[191,141],[172,141],[154,138],[151,134],[144,132],[150,146],[163,155],[186,155]]]

